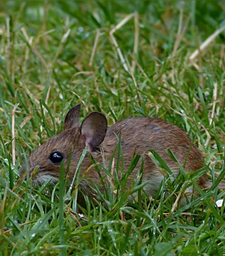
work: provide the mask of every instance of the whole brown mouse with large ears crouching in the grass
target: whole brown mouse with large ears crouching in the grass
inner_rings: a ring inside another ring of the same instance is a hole
[[[81,157],[82,151],[87,146],[88,152],[93,158],[106,165],[114,148],[118,145],[116,135],[121,138],[121,145],[124,157],[124,170],[128,170],[131,159],[135,154],[144,154],[143,182],[149,181],[144,189],[149,196],[154,197],[158,190],[163,174],[154,164],[151,158],[146,154],[149,149],[155,150],[167,163],[175,176],[179,173],[179,166],[167,154],[167,148],[173,152],[179,163],[182,165],[186,161],[185,171],[195,172],[203,167],[204,158],[200,150],[193,145],[187,134],[172,123],[163,121],[158,118],[148,117],[131,117],[115,123],[107,128],[106,117],[99,112],[92,112],[86,116],[82,124],[79,124],[81,104],[75,105],[66,115],[63,130],[60,134],[55,135],[49,141],[40,145],[29,156],[29,172],[33,172],[35,166],[38,171],[34,177],[35,182],[43,184],[46,180],[51,179],[51,183],[59,181],[60,162],[64,161],[66,169],[70,151],[72,150],[71,163],[69,168],[69,183],[71,184],[76,166]],[[81,164],[81,174],[93,164],[91,157],[86,154]],[[115,154],[116,162],[117,154]],[[141,158],[130,174],[130,180],[136,177],[137,171],[141,165]],[[22,166],[19,173],[24,170]],[[105,176],[105,174],[102,174]],[[92,179],[97,185],[100,178],[96,169],[93,167],[85,174],[86,178]],[[128,182],[129,183],[129,182]],[[200,186],[205,186],[206,179],[202,176],[198,180]],[[81,180],[79,190],[89,197],[92,196],[91,185],[86,179]]]

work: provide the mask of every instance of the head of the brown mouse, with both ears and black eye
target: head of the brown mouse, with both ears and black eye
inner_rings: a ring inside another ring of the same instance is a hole
[[[51,183],[54,184],[59,180],[61,162],[64,162],[66,169],[70,152],[72,152],[69,179],[73,178],[84,147],[87,146],[89,153],[96,151],[107,131],[107,119],[100,112],[90,113],[80,125],[80,106],[81,104],[77,104],[68,112],[60,134],[53,136],[49,141],[36,148],[28,158],[28,169],[26,165],[22,165],[19,175],[25,170],[29,171],[29,175],[31,175],[34,168],[38,166],[34,182],[43,184],[46,180],[51,179]]]

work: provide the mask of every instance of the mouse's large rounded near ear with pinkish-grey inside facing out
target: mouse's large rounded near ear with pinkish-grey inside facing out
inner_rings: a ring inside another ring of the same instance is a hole
[[[81,124],[81,134],[85,136],[85,144],[89,152],[102,143],[106,132],[107,119],[100,112],[90,113]]]

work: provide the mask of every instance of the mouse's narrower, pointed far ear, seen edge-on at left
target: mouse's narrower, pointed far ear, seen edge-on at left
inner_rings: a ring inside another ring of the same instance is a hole
[[[73,108],[70,109],[69,112],[66,114],[63,131],[69,130],[79,125],[80,106],[81,103],[73,106]]]

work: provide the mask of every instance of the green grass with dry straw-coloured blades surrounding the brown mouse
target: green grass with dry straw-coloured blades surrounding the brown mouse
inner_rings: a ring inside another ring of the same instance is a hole
[[[223,255],[224,206],[215,202],[225,195],[217,187],[217,177],[225,172],[224,31],[194,59],[197,66],[189,57],[224,26],[224,2],[3,1],[0,10],[2,255]],[[136,23],[131,18],[114,33],[126,71],[109,32],[134,12],[139,15]],[[101,195],[96,187],[107,207],[93,207],[85,198],[87,209],[79,217],[74,212],[77,190],[68,192],[62,179],[55,187],[17,182],[20,164],[60,132],[65,113],[78,102],[83,103],[81,120],[95,110],[107,116],[109,125],[144,115],[182,127],[205,154],[206,167],[192,176],[181,172],[172,184],[165,175],[154,200],[144,195],[138,179],[124,191],[126,177],[115,178],[116,195],[111,189]],[[202,191],[196,185],[201,196],[171,212],[176,198],[171,191],[178,195],[206,170],[215,189]],[[134,190],[138,199],[127,202]]]

